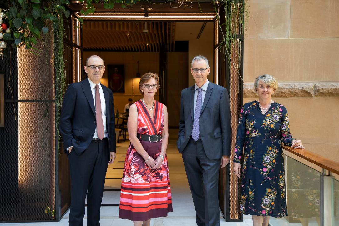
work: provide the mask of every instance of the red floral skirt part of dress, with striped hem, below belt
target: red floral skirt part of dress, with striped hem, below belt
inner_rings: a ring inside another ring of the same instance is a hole
[[[159,143],[141,141],[151,158],[160,155]],[[172,212],[167,157],[158,169],[150,169],[131,144],[126,153],[121,183],[119,218],[147,221]]]

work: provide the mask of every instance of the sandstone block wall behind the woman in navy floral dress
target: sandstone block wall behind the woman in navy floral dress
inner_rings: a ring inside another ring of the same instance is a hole
[[[248,0],[243,103],[255,78],[270,74],[273,100],[286,106],[292,135],[339,161],[339,1]]]

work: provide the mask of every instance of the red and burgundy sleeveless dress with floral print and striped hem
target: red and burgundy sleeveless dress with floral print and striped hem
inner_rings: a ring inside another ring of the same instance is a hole
[[[140,100],[135,104],[138,110],[138,133],[161,135],[164,127],[163,104],[155,101],[153,119]],[[161,152],[161,140],[140,143],[148,155],[156,160]],[[167,212],[172,211],[167,156],[158,169],[151,169],[132,143],[129,144],[121,182],[119,218],[147,221],[167,217]]]

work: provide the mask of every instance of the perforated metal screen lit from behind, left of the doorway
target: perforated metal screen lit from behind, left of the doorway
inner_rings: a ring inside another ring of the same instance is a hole
[[[6,84],[0,221],[54,219],[53,213],[45,213],[46,207],[55,209],[53,46],[40,42],[38,48],[40,56],[22,47],[0,62]]]

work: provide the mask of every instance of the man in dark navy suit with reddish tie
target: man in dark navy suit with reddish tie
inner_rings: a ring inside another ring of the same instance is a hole
[[[71,168],[69,225],[83,225],[87,195],[87,225],[100,225],[100,206],[107,165],[115,160],[113,93],[100,84],[103,60],[92,55],[87,78],[69,84],[60,114],[60,133]]]

